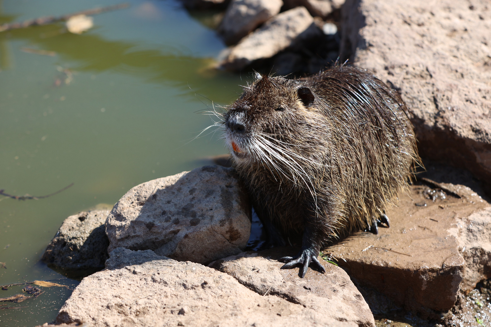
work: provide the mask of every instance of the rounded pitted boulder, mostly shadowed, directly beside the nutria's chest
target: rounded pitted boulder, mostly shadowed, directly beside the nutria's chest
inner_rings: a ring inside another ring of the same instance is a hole
[[[232,168],[204,166],[135,186],[108,216],[108,252],[153,250],[198,263],[242,252],[251,206],[241,185]]]

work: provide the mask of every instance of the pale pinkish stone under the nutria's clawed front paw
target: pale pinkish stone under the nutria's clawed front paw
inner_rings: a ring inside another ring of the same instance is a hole
[[[270,294],[301,304],[328,318],[375,327],[375,321],[362,295],[346,272],[321,260],[326,274],[309,270],[299,278],[298,269],[280,269],[278,259],[295,254],[296,248],[274,248],[261,252],[243,252],[214,261],[209,267],[236,278],[261,295]]]

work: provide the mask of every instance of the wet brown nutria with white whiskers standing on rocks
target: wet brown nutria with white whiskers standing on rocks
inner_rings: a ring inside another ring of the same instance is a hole
[[[384,208],[420,161],[407,107],[354,66],[303,81],[256,75],[221,115],[224,139],[273,243],[301,240],[281,268],[324,272],[323,244],[388,227]]]

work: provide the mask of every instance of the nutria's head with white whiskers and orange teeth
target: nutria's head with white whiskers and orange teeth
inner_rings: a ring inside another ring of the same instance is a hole
[[[314,102],[301,82],[258,74],[223,116],[225,142],[235,162],[275,166],[288,158],[286,149],[298,144],[309,128]]]

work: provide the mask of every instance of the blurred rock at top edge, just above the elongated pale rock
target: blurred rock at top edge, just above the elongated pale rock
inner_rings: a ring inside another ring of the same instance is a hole
[[[235,44],[279,13],[281,0],[232,0],[218,27],[226,44]]]

